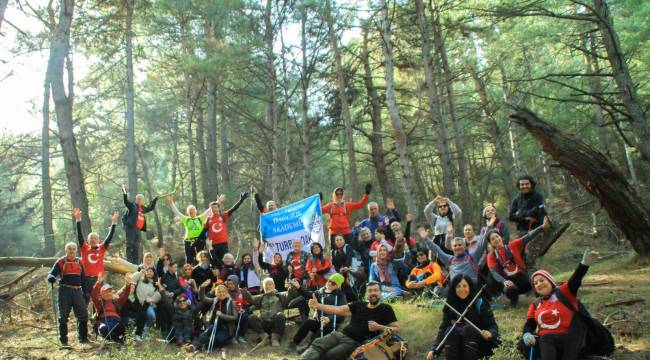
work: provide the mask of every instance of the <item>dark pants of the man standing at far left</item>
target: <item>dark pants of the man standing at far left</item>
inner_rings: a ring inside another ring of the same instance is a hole
[[[88,340],[88,309],[81,288],[73,289],[61,285],[59,287],[59,340],[62,344],[68,343],[68,316],[74,311],[77,318],[77,332],[79,341]]]

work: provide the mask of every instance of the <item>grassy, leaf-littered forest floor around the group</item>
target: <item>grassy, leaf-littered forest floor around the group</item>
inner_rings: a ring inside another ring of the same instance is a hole
[[[612,331],[617,351],[614,359],[650,359],[650,261],[639,259],[623,245],[614,245],[589,236],[567,233],[541,259],[542,267],[555,274],[557,280],[566,280],[580,261],[584,249],[598,249],[604,259],[593,265],[587,274],[579,297],[587,305],[592,315],[605,321]],[[0,273],[0,283],[6,283],[16,273]],[[43,284],[47,287],[46,284]],[[45,292],[45,289],[43,290]],[[56,329],[51,311],[49,293],[40,299],[30,294],[21,295],[12,303],[0,304],[0,358],[2,359],[179,359],[215,358],[221,351],[208,356],[205,353],[190,354],[167,345],[154,338],[152,331],[143,343],[136,345],[133,335],[128,336],[126,346],[108,345],[100,349],[100,341],[93,345],[81,346],[76,341],[74,321],[70,321],[70,343],[72,350],[60,350],[57,345]],[[615,304],[630,300],[632,304]],[[499,324],[502,346],[493,359],[519,359],[515,343],[521,334],[528,304],[532,295],[520,299],[516,309],[505,305],[505,299],[498,303],[504,305],[495,310]],[[400,335],[409,343],[409,358],[423,359],[431,341],[436,336],[441,319],[439,307],[419,307],[407,302],[393,304],[401,323]],[[11,314],[11,316],[9,316]],[[71,317],[73,317],[71,315]],[[287,327],[288,335],[293,335],[297,326]],[[254,336],[248,344],[225,348],[227,359],[297,359],[298,355],[285,355],[284,348],[289,336],[285,336],[280,348],[263,347],[252,355],[246,352],[252,348]]]

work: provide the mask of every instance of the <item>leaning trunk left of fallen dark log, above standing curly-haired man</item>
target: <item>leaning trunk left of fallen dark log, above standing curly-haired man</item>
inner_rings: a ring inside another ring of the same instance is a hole
[[[478,56],[478,51],[476,54]],[[503,188],[508,196],[508,199],[513,199],[516,194],[513,190],[513,184],[515,181],[512,177],[512,158],[508,156],[508,149],[504,141],[504,134],[499,129],[496,119],[494,118],[494,113],[492,112],[492,107],[488,98],[485,82],[479,76],[476,70],[476,65],[469,64],[468,69],[472,74],[472,78],[474,79],[474,86],[479,96],[479,105],[482,110],[481,112],[483,114],[485,125],[488,128],[488,133],[492,136],[494,148],[496,151],[496,157],[499,159],[499,165],[501,165],[501,180],[503,181]]]

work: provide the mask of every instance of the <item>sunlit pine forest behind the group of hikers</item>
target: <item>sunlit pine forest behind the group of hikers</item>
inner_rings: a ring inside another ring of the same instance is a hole
[[[140,264],[159,248],[182,258],[169,193],[202,213],[251,186],[283,206],[319,193],[325,204],[337,187],[358,200],[370,183],[371,201],[415,224],[440,195],[478,229],[488,204],[507,219],[523,175],[551,219],[572,223],[545,258],[563,279],[586,248],[603,250],[604,273],[647,274],[649,24],[643,0],[0,0],[0,94],[29,94],[28,111],[0,99],[0,283],[36,266],[18,257],[64,255],[73,208],[104,236],[126,210],[122,187],[160,197],[142,241],[118,225],[108,252]],[[250,196],[231,252],[252,248],[258,222]],[[601,320],[621,300],[609,290],[589,294]],[[622,353],[650,353],[649,324],[610,328]],[[414,340],[412,358],[434,336]]]

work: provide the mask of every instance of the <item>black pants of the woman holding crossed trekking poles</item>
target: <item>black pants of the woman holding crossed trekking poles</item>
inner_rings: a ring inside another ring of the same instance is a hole
[[[443,349],[447,360],[477,360],[490,354],[490,344],[470,326],[454,328]]]

